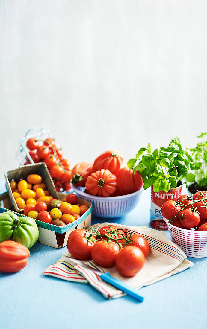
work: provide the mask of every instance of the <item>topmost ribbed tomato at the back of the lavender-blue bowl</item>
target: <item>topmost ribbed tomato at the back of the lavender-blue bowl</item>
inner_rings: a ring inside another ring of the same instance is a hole
[[[115,174],[123,164],[123,156],[118,151],[106,151],[102,153],[93,164],[93,172],[108,169]]]

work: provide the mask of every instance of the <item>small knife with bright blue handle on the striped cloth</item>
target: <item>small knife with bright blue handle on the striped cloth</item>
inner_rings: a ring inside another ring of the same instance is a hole
[[[100,278],[111,284],[112,286],[126,292],[129,296],[133,297],[134,299],[138,300],[139,302],[143,302],[144,300],[144,297],[140,296],[138,293],[137,293],[137,290],[131,286],[129,286],[128,284],[126,284],[125,282],[121,281],[121,280],[118,280],[118,279],[115,279],[113,278],[109,272],[106,272],[106,273],[102,273],[101,271],[97,270],[97,269],[94,269],[92,268],[91,266],[88,266],[87,264],[83,263],[82,261],[80,260],[77,260],[73,257],[69,257],[69,256],[66,256],[68,259],[70,259],[72,262],[74,262],[75,264],[79,264],[89,270],[91,270],[92,272],[94,272],[95,274],[99,275]]]

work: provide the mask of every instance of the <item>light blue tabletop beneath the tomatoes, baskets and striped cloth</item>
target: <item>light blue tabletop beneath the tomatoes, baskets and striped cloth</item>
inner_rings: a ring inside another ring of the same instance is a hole
[[[4,191],[1,179],[0,192]],[[103,221],[92,216],[92,224]],[[149,227],[150,189],[142,192],[131,213],[110,222]],[[0,328],[207,327],[207,258],[189,257],[192,268],[141,288],[145,299],[139,303],[129,296],[107,300],[90,285],[44,276],[44,269],[66,251],[67,247],[55,249],[37,242],[25,268],[0,273]]]

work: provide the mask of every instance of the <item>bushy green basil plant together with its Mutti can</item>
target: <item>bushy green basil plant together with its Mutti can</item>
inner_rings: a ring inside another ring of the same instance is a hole
[[[128,161],[133,173],[138,171],[144,183],[144,190],[151,187],[151,222],[150,225],[160,230],[167,230],[163,221],[161,207],[166,200],[177,200],[181,195],[182,179],[188,176],[190,152],[183,146],[183,141],[176,137],[167,147],[156,148],[151,152],[150,143],[141,147],[135,158]]]

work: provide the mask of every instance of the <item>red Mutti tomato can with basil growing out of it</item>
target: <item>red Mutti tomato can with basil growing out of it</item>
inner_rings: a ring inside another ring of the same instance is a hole
[[[168,192],[164,190],[155,192],[151,187],[151,209],[150,209],[150,226],[158,230],[167,230],[167,225],[163,220],[161,213],[162,205],[167,200],[176,201],[181,195],[182,185],[170,189]]]

